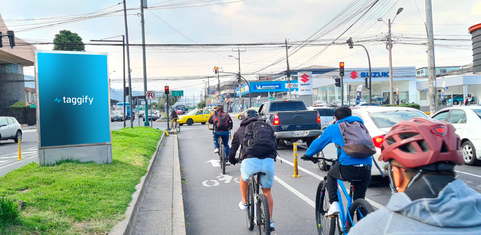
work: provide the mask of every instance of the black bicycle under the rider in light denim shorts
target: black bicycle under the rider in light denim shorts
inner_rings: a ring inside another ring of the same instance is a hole
[[[270,215],[269,204],[267,204],[266,195],[259,193],[259,176],[266,173],[255,173],[249,179],[249,188],[247,189],[247,228],[254,229],[257,225],[257,235],[270,235]],[[274,230],[272,230],[274,231]]]

